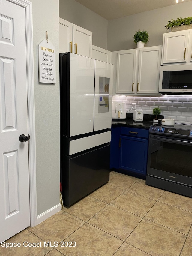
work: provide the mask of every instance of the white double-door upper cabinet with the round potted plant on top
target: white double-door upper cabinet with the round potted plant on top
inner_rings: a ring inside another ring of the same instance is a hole
[[[117,71],[114,74],[116,93],[157,95],[161,52],[161,46],[112,52],[112,64]]]

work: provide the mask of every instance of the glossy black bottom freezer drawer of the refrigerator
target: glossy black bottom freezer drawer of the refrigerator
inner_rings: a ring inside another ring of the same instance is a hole
[[[110,143],[77,156],[62,156],[62,196],[71,205],[110,178]]]

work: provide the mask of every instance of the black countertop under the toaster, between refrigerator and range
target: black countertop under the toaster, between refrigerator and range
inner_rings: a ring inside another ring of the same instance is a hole
[[[133,120],[133,114],[131,113],[126,115],[126,119],[116,120],[112,119],[112,127],[114,126],[125,126],[125,127],[133,127],[133,128],[140,128],[140,129],[146,129],[149,130],[150,126],[155,124],[159,124],[161,126],[161,121],[158,123],[153,122],[153,115],[145,115],[144,114],[144,120],[142,122],[134,122]],[[164,116],[158,116],[159,119],[164,118]]]

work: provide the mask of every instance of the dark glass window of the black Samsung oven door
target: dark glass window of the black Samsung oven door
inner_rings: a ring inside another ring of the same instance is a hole
[[[192,177],[192,143],[169,139],[151,139],[153,169]]]

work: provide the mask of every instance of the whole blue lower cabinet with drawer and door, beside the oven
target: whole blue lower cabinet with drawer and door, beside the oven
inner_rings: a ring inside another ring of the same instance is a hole
[[[110,168],[139,178],[146,178],[149,130],[112,127]]]

